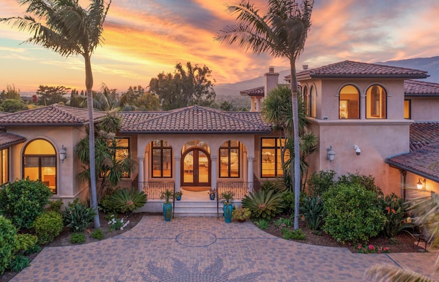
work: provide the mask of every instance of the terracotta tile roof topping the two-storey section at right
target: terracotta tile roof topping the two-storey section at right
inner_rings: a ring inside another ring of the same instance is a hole
[[[390,67],[381,64],[345,60],[297,73],[298,80],[306,78],[427,78],[427,71]]]

